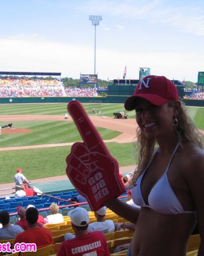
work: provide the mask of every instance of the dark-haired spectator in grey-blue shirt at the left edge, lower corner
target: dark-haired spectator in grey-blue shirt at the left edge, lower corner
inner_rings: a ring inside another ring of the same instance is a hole
[[[0,228],[1,240],[15,238],[17,234],[24,231],[22,227],[10,224],[10,215],[8,211],[0,212],[0,223],[2,224],[2,228]]]

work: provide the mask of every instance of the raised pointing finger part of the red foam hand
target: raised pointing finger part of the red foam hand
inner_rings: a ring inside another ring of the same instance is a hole
[[[78,131],[80,132],[85,145],[87,145],[87,148],[91,151],[101,152],[102,154],[110,154],[82,104],[77,100],[72,100],[68,104],[68,111],[77,125]]]

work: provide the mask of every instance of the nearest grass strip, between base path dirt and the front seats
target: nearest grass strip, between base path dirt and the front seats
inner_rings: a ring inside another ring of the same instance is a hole
[[[106,145],[110,154],[119,161],[119,166],[135,164],[132,143],[106,143]],[[70,150],[71,146],[2,151],[0,184],[12,182],[17,168],[22,168],[28,179],[64,175],[66,156]]]

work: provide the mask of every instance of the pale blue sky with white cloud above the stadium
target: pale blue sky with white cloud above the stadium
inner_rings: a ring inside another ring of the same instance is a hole
[[[0,0],[0,71],[138,79],[140,67],[196,82],[204,71],[203,0]]]

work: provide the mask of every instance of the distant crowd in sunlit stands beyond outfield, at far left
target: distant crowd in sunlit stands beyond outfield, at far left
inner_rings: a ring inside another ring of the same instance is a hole
[[[60,79],[1,78],[0,97],[96,97],[97,88],[64,87]]]

